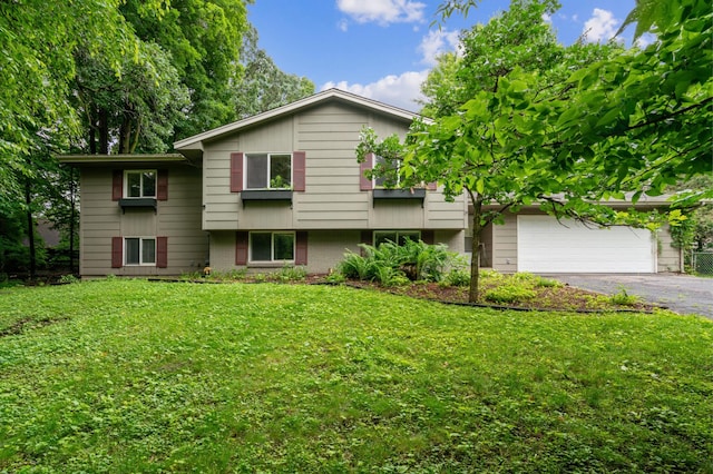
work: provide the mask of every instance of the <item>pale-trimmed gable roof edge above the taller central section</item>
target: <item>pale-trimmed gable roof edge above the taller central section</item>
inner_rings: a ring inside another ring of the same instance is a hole
[[[266,112],[257,113],[252,117],[247,117],[243,120],[235,121],[233,124],[224,125],[222,127],[214,128],[213,130],[204,131],[203,134],[194,135],[193,137],[178,140],[174,144],[174,148],[177,150],[186,149],[202,149],[202,142],[204,140],[211,140],[218,138],[223,135],[235,132],[242,128],[257,125],[263,121],[274,119],[280,116],[293,113],[299,110],[313,107],[318,103],[325,102],[328,100],[341,100],[359,107],[364,107],[381,113],[389,115],[391,117],[401,118],[404,121],[413,121],[417,118],[423,118],[418,113],[410,112],[398,107],[389,106],[377,100],[367,99],[365,97],[356,96],[355,93],[346,92],[340,89],[328,89],[313,96],[300,99],[286,106],[277,107]],[[426,119],[428,120],[428,119]]]

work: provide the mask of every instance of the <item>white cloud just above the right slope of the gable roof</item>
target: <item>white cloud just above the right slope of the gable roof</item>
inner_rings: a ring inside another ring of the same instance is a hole
[[[389,106],[418,111],[421,106],[418,105],[416,100],[423,99],[423,96],[421,95],[421,82],[426,80],[428,72],[428,70],[409,71],[401,76],[387,76],[379,79],[377,82],[368,85],[350,85],[346,81],[330,81],[323,85],[320,90],[332,88],[342,89],[348,92],[388,103]]]

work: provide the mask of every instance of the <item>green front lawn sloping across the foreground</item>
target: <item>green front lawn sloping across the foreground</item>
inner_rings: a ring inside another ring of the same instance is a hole
[[[0,472],[713,470],[700,317],[114,279],[0,333]]]

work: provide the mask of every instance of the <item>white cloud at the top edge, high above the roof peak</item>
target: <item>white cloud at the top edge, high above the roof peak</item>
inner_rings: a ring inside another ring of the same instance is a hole
[[[426,3],[410,0],[336,0],[336,8],[359,23],[412,23],[423,21]]]

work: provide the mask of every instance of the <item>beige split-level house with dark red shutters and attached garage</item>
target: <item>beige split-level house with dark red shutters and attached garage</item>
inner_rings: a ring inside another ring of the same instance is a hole
[[[364,177],[379,158],[356,161],[363,127],[403,137],[416,117],[330,89],[177,141],[175,154],[60,157],[81,170],[80,273],[178,275],[207,265],[270,271],[285,264],[328,273],[361,243],[404,238],[466,253],[465,196],[446,201],[433,184],[384,189]],[[485,229],[482,264],[502,271],[602,271],[573,255],[604,251],[606,261],[624,263],[611,267],[616,271],[680,267],[667,233],[626,228],[593,237],[592,229],[572,234],[575,225],[551,224],[535,210],[507,216],[504,226]],[[605,249],[593,247],[602,241]],[[647,253],[645,266],[632,260],[631,245]],[[533,263],[537,256],[544,264]],[[559,266],[563,260],[570,265]]]

